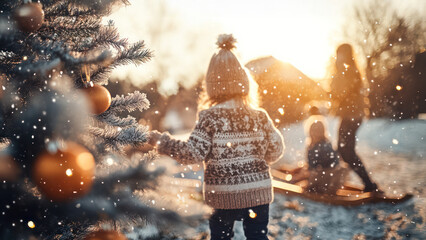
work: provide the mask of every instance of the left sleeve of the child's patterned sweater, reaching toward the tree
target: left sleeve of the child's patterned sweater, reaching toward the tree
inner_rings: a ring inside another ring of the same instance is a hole
[[[173,139],[168,133],[160,137],[158,152],[174,158],[181,164],[202,162],[210,153],[212,146],[210,119],[205,111],[199,114],[199,120],[187,141]]]

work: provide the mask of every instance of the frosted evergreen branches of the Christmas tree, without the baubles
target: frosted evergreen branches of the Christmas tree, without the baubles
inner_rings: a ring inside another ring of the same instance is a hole
[[[68,75],[75,87],[81,84],[82,65],[90,65],[95,83],[106,83],[115,67],[138,65],[152,57],[144,42],[129,44],[120,38],[112,22],[102,24],[102,17],[115,5],[128,4],[127,0],[38,1],[45,20],[34,32],[20,31],[10,21],[23,0],[0,3],[0,77],[6,86],[0,101],[0,141],[9,145],[10,155],[21,170],[18,180],[0,183],[0,206],[11,206],[0,216],[0,225],[8,225],[0,230],[0,238],[27,239],[35,234],[48,239],[76,239],[85,235],[90,225],[105,218],[124,220],[127,225],[129,219],[140,216],[158,223],[181,222],[178,214],[155,209],[144,204],[144,195],[135,195],[135,189],[151,190],[158,185],[157,178],[164,169],[146,168],[154,155],[144,155],[136,166],[123,160],[121,169],[104,169],[106,174],[96,176],[91,192],[79,199],[51,202],[36,190],[30,177],[32,164],[47,140],[64,139],[85,145],[100,163],[98,168],[106,154],[121,153],[125,146],[147,141],[147,127],[138,125],[132,116],[119,117],[123,111],[148,109],[145,94],[136,91],[117,96],[107,112],[92,118],[95,121],[86,121],[85,98],[71,98],[75,92],[67,84],[57,90],[53,83],[59,81],[48,77],[51,69]],[[60,80],[65,81],[66,77]],[[35,229],[28,228],[27,219],[36,223]],[[13,222],[18,223],[16,227],[10,225]]]

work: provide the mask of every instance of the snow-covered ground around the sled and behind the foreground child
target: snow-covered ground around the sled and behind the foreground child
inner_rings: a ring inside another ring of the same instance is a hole
[[[327,123],[335,144],[338,120],[328,118]],[[275,166],[297,165],[305,156],[303,126],[290,125],[282,132],[286,154]],[[387,193],[411,193],[415,197],[399,205],[341,207],[276,194],[270,208],[270,239],[426,239],[426,121],[369,120],[359,129],[358,137],[357,152],[380,187]],[[164,159],[165,162],[173,163]],[[193,167],[182,170],[176,178],[202,178],[202,172]],[[356,175],[351,178],[359,182]],[[177,201],[181,201],[184,192],[177,196]],[[192,207],[191,201],[182,209],[202,211],[199,206]],[[234,230],[235,240],[245,239],[241,222]],[[128,236],[155,239],[157,233],[155,228],[137,232]],[[174,239],[210,239],[208,233],[208,223],[204,221]]]

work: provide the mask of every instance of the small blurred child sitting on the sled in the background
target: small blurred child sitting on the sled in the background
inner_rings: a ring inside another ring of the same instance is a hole
[[[340,165],[340,156],[326,137],[324,119],[317,108],[310,110],[307,158],[309,175],[308,191],[335,194],[347,177],[346,168]]]

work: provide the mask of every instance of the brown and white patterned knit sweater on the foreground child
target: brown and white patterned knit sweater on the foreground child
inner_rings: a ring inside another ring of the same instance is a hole
[[[215,209],[271,203],[269,165],[283,150],[283,137],[265,111],[232,100],[201,111],[187,141],[163,134],[158,145],[181,164],[204,163],[204,200]]]

